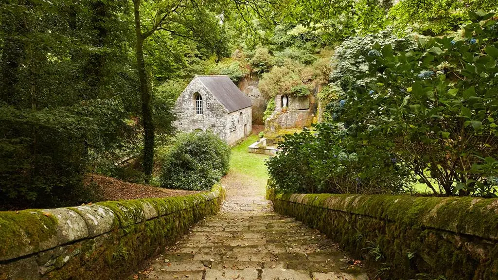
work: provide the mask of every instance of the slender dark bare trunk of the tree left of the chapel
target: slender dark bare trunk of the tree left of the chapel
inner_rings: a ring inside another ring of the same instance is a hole
[[[138,78],[140,79],[140,97],[142,101],[142,124],[143,124],[143,172],[145,182],[148,183],[152,175],[154,164],[154,124],[152,123],[152,110],[150,106],[151,89],[147,72],[145,70],[145,60],[143,58],[143,40],[140,27],[140,0],[133,0],[135,13],[135,33],[136,33],[136,64]]]

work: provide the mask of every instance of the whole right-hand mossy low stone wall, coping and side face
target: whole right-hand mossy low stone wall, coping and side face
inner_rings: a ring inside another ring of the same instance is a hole
[[[369,260],[381,279],[498,279],[498,199],[275,194],[272,188],[267,196],[276,212]]]

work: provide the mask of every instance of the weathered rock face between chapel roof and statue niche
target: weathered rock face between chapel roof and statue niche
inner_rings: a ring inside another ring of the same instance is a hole
[[[263,113],[266,110],[267,98],[264,97],[257,85],[259,84],[259,77],[256,73],[251,76],[244,77],[239,83],[239,89],[245,93],[252,103],[252,123],[255,125],[263,124]]]

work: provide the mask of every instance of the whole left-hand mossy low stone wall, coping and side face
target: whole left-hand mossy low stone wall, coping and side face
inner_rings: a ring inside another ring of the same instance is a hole
[[[0,280],[125,279],[224,198],[215,185],[188,196],[0,212]]]

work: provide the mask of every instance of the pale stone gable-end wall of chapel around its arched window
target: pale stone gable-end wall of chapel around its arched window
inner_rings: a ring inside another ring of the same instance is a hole
[[[202,96],[203,115],[197,115],[195,111],[194,94]],[[193,132],[196,129],[202,131],[211,130],[221,139],[228,140],[227,110],[206,90],[206,87],[194,78],[178,97],[175,104],[175,113],[178,121],[174,126],[183,132]]]

